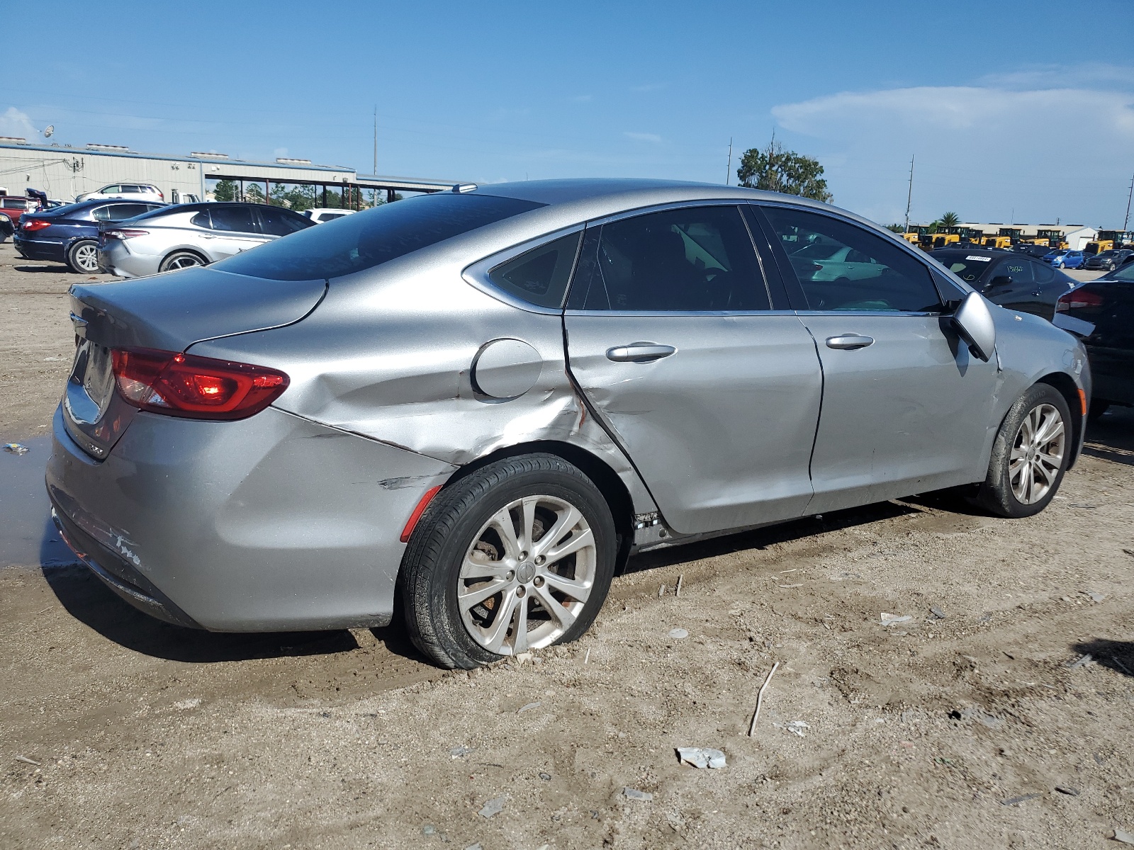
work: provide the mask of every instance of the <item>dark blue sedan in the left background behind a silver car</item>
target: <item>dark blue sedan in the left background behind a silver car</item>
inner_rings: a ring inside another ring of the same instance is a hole
[[[73,272],[99,271],[99,222],[125,221],[166,204],[146,201],[82,201],[24,213],[14,233],[16,250],[27,260],[66,263]]]

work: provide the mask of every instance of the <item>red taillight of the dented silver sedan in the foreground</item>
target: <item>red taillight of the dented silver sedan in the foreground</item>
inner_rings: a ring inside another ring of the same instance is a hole
[[[280,397],[282,372],[179,351],[116,348],[118,392],[134,407],[193,419],[245,419]]]

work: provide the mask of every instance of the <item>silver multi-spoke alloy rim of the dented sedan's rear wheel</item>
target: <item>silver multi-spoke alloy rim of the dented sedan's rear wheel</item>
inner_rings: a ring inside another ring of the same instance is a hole
[[[582,511],[557,496],[509,502],[465,553],[457,607],[472,638],[497,655],[549,646],[582,613],[598,551]]]

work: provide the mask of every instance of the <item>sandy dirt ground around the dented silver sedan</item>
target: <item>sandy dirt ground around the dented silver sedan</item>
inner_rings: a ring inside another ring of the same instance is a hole
[[[45,267],[0,246],[0,442],[66,375]],[[1119,847],[1132,527],[1123,410],[1038,517],[924,498],[641,556],[582,640],[473,674],[396,627],[210,635],[0,570],[0,848]]]

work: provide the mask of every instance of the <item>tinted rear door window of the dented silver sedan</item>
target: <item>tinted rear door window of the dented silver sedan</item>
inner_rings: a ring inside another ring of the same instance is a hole
[[[568,307],[642,312],[768,309],[736,206],[691,206],[587,228]]]

